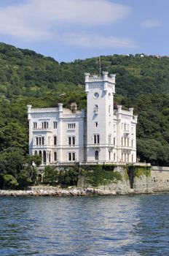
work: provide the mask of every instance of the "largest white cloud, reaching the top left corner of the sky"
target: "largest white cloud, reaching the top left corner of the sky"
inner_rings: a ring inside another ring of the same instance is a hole
[[[130,12],[130,7],[109,0],[28,0],[0,8],[0,34],[41,41],[70,24],[83,28],[112,24]]]

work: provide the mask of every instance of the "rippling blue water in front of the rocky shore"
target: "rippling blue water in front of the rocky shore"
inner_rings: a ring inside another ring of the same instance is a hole
[[[0,197],[0,255],[169,255],[169,195]]]

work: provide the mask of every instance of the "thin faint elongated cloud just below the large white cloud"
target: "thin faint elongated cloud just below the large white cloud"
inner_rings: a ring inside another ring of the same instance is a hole
[[[66,33],[61,38],[69,45],[77,45],[82,48],[136,48],[135,42],[130,38],[104,37],[100,34],[87,34],[85,32]]]

